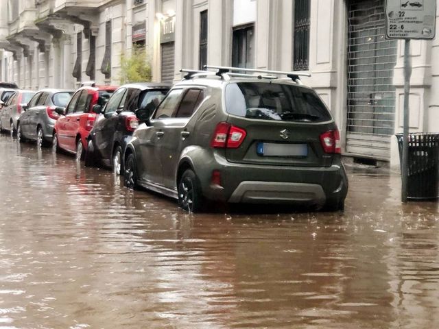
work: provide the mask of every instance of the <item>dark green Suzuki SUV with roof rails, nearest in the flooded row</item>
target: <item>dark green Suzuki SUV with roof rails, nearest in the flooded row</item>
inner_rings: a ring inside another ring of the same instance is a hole
[[[137,110],[126,186],[174,197],[190,212],[212,202],[343,210],[340,134],[317,93],[294,73],[206,69],[182,70],[157,107]]]

